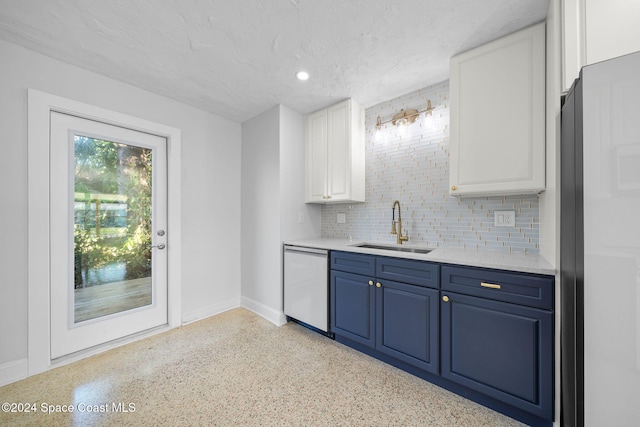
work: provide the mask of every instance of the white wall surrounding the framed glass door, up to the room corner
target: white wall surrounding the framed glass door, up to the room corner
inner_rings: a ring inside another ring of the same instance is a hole
[[[183,320],[237,306],[240,124],[1,40],[0,58],[0,371],[27,357],[27,88],[181,129]]]

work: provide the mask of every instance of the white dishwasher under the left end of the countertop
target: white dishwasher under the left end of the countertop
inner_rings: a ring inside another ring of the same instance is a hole
[[[328,252],[284,247],[284,314],[329,333]]]

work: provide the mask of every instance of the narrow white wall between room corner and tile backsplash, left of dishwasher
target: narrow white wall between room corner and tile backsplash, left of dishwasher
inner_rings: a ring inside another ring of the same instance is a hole
[[[304,117],[279,105],[242,124],[242,305],[283,323],[282,242],[319,235],[320,207],[304,203]]]

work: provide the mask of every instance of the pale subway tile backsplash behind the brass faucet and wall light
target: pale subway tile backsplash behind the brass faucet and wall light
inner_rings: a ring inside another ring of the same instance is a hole
[[[376,140],[378,116],[385,121],[401,108],[423,110],[427,99],[435,108],[428,125],[421,115],[410,125],[411,136],[401,137],[389,123]],[[393,241],[391,205],[399,200],[410,243],[539,252],[537,196],[449,196],[448,81],[367,108],[365,127],[366,202],[324,205],[322,237]],[[494,227],[496,210],[515,210],[516,227]],[[346,213],[344,224],[337,223],[338,213]]]

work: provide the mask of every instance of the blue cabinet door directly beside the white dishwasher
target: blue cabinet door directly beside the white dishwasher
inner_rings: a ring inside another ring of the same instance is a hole
[[[331,271],[331,329],[368,347],[375,347],[375,287],[372,278]]]

